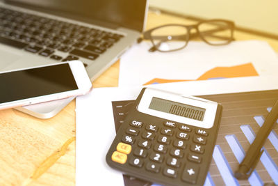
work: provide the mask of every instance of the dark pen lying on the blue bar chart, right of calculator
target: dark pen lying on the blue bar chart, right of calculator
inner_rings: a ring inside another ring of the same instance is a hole
[[[243,162],[239,164],[238,170],[234,173],[234,176],[238,180],[246,180],[254,171],[256,164],[259,162],[261,154],[263,153],[263,150],[261,148],[263,148],[263,144],[268,138],[268,135],[270,134],[274,123],[277,121],[277,118],[278,101],[275,103],[270,113],[265,118],[265,122],[263,123],[258,134],[256,134],[256,138],[254,139],[250,148],[248,148]]]

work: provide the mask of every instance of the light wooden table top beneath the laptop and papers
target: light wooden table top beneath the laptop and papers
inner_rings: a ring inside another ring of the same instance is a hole
[[[147,29],[193,20],[149,12]],[[265,40],[278,52],[278,40],[235,31],[236,40]],[[93,82],[117,86],[119,61]],[[75,101],[47,120],[15,109],[0,111],[0,185],[75,185]],[[90,148],[90,146],[88,146]]]

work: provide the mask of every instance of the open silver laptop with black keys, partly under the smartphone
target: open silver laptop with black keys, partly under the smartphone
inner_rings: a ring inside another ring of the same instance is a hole
[[[140,37],[147,8],[147,0],[0,1],[0,71],[79,59],[93,81]],[[49,118],[72,99],[17,109]]]

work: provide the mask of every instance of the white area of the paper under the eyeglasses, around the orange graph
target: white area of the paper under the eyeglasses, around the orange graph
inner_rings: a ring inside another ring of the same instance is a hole
[[[195,80],[216,67],[247,63],[252,63],[260,76],[275,74],[278,69],[277,54],[263,41],[235,41],[222,46],[190,41],[177,52],[148,52],[151,46],[150,42],[141,42],[122,56],[119,86],[140,86],[154,78]]]

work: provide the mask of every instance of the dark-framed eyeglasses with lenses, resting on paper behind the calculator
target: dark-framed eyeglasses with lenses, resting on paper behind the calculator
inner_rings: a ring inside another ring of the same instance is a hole
[[[190,33],[193,29],[196,32]],[[197,36],[208,45],[227,45],[234,40],[234,22],[207,20],[193,25],[166,24],[143,33],[143,38],[151,40],[153,44],[149,52],[177,51],[186,47],[188,41]]]

